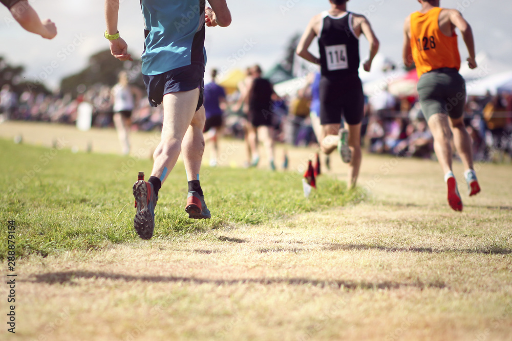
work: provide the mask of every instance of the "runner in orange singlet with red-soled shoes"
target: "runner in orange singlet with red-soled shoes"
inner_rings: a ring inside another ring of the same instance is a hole
[[[421,110],[434,135],[434,150],[444,172],[448,202],[462,211],[462,200],[452,172],[451,134],[464,164],[468,194],[480,192],[473,169],[471,138],[463,122],[466,101],[464,79],[459,74],[458,28],[462,34],[471,69],[477,67],[471,26],[454,9],[439,8],[439,0],[418,0],[421,10],[412,13],[404,24],[403,62],[416,64]]]

